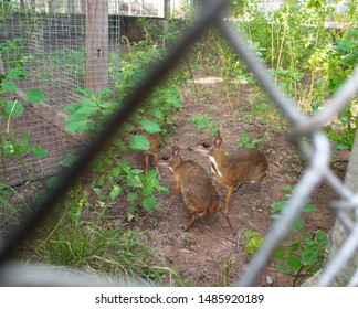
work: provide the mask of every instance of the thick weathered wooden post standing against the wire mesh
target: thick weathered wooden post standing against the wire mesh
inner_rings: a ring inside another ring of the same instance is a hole
[[[108,87],[108,1],[87,1],[86,87],[96,93]]]

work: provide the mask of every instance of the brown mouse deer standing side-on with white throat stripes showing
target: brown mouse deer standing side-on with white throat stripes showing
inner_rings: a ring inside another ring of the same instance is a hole
[[[220,131],[217,131],[213,138],[197,141],[189,150],[207,156],[213,179],[228,188],[225,213],[235,187],[265,179],[270,189],[266,157],[256,149],[239,149],[227,156]]]

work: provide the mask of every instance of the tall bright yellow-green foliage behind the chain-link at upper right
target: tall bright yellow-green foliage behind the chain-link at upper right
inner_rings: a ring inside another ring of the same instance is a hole
[[[351,74],[357,63],[356,1],[347,3],[345,15],[336,12],[328,0],[283,1],[277,10],[268,13],[262,12],[259,3],[231,1],[231,15],[238,29],[246,34],[250,49],[270,66],[268,73],[276,84],[295,98],[304,113],[315,113]],[[326,29],[325,23],[329,20],[346,22],[348,26]],[[224,84],[234,81],[236,85],[250,83],[255,86],[241,61],[214,32],[210,32],[198,49],[198,53],[204,51],[208,66],[227,79]],[[264,109],[256,116],[266,117],[270,109],[261,104],[260,107]],[[350,110],[356,109],[357,102],[354,102]],[[339,116],[344,118],[339,124],[333,124],[326,130],[336,143],[335,150],[351,149],[356,127],[350,124],[356,122],[357,115],[352,113],[348,120],[348,113]],[[253,114],[252,110],[242,118],[254,122]]]

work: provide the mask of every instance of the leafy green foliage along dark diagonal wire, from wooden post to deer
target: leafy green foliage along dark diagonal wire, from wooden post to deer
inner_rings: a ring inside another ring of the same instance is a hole
[[[130,92],[145,78],[146,72],[151,65],[151,57],[160,58],[164,50],[155,49],[151,41],[138,42],[135,52],[120,56],[119,72],[113,66],[118,65],[115,57],[109,64],[110,78],[120,82],[116,85],[118,99],[113,100],[113,94],[108,89],[103,89],[95,94],[92,89],[77,89],[82,95],[80,103],[69,104],[65,110],[70,114],[66,118],[66,130],[74,134],[96,132],[102,129],[104,121],[120,108]],[[119,78],[118,78],[119,77]],[[93,180],[91,191],[94,192],[97,204],[108,205],[125,201],[127,220],[136,220],[138,212],[145,210],[159,210],[159,204],[155,193],[166,194],[168,190],[164,188],[156,171],[147,174],[143,170],[133,169],[128,160],[118,159],[130,148],[134,151],[148,150],[150,148],[147,136],[133,134],[135,129],[141,129],[147,134],[166,134],[165,127],[171,122],[173,111],[182,107],[179,88],[176,85],[178,79],[172,77],[167,85],[158,86],[152,96],[145,105],[139,107],[124,125],[125,136],[129,136],[128,142],[122,138],[116,138],[109,148],[98,156],[92,167]],[[91,193],[92,194],[92,193]]]

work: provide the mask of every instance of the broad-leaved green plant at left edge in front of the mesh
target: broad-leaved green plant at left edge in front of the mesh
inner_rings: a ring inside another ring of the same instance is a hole
[[[46,99],[45,95],[38,88],[25,92],[24,95],[27,100],[24,102],[11,98],[14,97],[13,94],[18,88],[15,81],[25,75],[25,72],[12,68],[7,75],[0,77],[0,169],[4,177],[4,181],[0,183],[0,190],[2,190],[0,202],[4,206],[3,209],[0,209],[0,225],[12,221],[14,217],[21,220],[19,206],[13,206],[14,199],[18,201],[19,205],[28,206],[25,199],[8,183],[8,160],[17,158],[17,161],[23,169],[28,183],[31,184],[32,181],[23,158],[29,154],[32,154],[35,158],[44,158],[49,154],[48,150],[31,142],[30,132],[20,134],[17,127],[17,124],[19,124],[19,120],[25,111],[27,105],[38,104]],[[32,198],[34,198],[35,190],[32,189],[35,188],[32,185],[29,188],[31,189],[30,193],[32,194]]]

